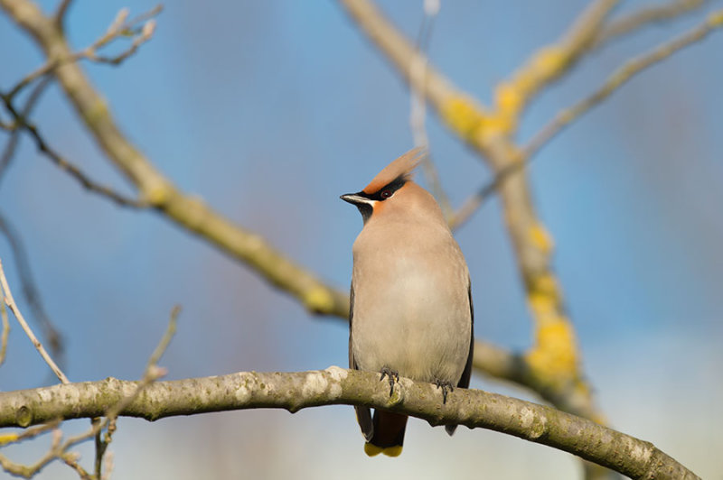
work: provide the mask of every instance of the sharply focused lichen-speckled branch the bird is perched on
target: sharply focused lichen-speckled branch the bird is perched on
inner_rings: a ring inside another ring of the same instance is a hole
[[[495,393],[455,389],[447,402],[432,383],[399,380],[390,396],[379,374],[329,367],[299,373],[242,372],[146,386],[121,415],[158,420],[209,411],[321,405],[366,405],[406,413],[432,425],[493,429],[559,448],[633,478],[698,478],[653,444],[590,420]],[[137,391],[108,378],[35,390],[0,392],[0,427],[28,427],[58,418],[99,417]],[[350,411],[351,415],[351,411]]]

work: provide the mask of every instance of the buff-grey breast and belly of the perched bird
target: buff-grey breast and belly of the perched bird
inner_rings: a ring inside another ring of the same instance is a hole
[[[362,370],[458,382],[472,328],[466,263],[451,235],[428,240],[355,249],[352,350]]]

